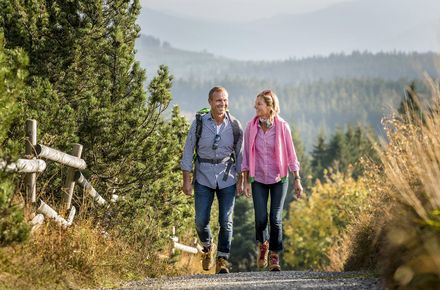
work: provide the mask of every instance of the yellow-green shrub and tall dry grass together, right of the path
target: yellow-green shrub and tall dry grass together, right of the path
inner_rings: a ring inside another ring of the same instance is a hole
[[[291,204],[287,265],[368,270],[389,289],[437,289],[440,283],[440,91],[420,102],[414,85],[384,119],[380,162],[364,159],[356,180],[333,172],[307,200]]]

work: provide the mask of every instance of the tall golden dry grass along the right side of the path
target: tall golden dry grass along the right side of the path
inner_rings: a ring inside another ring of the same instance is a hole
[[[440,90],[385,120],[382,164],[367,164],[369,207],[330,250],[330,268],[379,271],[387,289],[440,289]],[[417,104],[421,106],[421,104]]]

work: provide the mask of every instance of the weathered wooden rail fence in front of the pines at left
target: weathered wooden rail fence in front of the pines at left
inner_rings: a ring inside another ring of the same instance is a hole
[[[81,144],[73,144],[71,154],[64,153],[57,149],[37,143],[37,121],[26,121],[26,154],[25,159],[18,159],[9,163],[0,160],[0,170],[13,171],[25,174],[26,196],[30,202],[37,202],[37,173],[41,173],[46,169],[45,160],[55,161],[67,166],[67,175],[63,191],[63,206],[69,210],[67,219],[60,216],[56,210],[47,205],[40,199],[40,205],[37,208],[37,215],[32,219],[31,225],[34,231],[44,222],[44,217],[53,220],[63,227],[68,227],[73,223],[76,209],[72,206],[72,196],[75,184],[80,185],[84,192],[88,193],[98,204],[104,205],[107,201],[99,195],[93,188],[91,183],[84,177],[81,170],[87,167],[86,162],[81,159],[83,146]],[[112,201],[117,200],[117,195],[113,195]]]

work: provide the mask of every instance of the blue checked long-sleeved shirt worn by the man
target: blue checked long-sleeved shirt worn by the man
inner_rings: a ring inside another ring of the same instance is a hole
[[[217,134],[217,126],[215,120],[212,118],[211,113],[207,113],[202,116],[202,136],[199,140],[198,155],[203,159],[223,159],[231,156],[234,150],[234,135],[232,133],[232,125],[227,115],[220,127],[219,134],[221,139],[218,143],[216,150],[212,149],[215,135]],[[241,126],[240,126],[241,127]],[[180,162],[180,168],[184,171],[192,171],[193,168],[193,154],[196,145],[196,120],[191,124],[188,136],[185,142],[185,148],[183,150],[183,157]],[[196,164],[196,180],[198,183],[210,188],[219,189],[229,187],[236,183],[237,172],[241,172],[241,161],[243,158],[243,134],[240,134],[240,138],[237,142],[237,148],[235,148],[236,163],[232,165],[229,171],[229,176],[226,181],[223,181],[223,176],[226,171],[227,162],[219,164],[211,163],[199,163]]]

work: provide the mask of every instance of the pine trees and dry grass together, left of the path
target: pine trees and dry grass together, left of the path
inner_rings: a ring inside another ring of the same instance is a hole
[[[104,199],[119,196],[100,207],[76,187],[73,225],[46,220],[31,233],[39,202],[30,203],[23,174],[0,172],[2,289],[111,287],[179,272],[168,263],[172,226],[184,241],[194,236],[178,170],[188,123],[177,107],[164,116],[168,69],[147,82],[135,62],[139,9],[138,1],[0,1],[0,158],[24,158],[24,124],[36,119],[38,143],[64,152],[82,144],[82,173]],[[47,164],[37,200],[66,216],[66,169]]]

